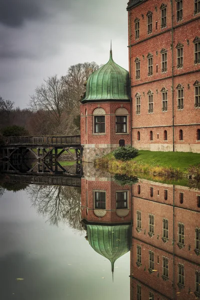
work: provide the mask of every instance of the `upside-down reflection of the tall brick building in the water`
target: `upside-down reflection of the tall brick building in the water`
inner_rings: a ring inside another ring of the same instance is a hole
[[[200,297],[200,191],[133,185],[130,299]]]

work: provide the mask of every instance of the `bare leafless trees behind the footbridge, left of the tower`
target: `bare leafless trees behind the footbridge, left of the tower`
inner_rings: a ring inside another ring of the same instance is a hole
[[[88,76],[98,69],[94,62],[71,65],[66,75],[49,76],[35,88],[27,108],[0,96],[0,129],[22,126],[30,135],[79,134],[79,105]]]

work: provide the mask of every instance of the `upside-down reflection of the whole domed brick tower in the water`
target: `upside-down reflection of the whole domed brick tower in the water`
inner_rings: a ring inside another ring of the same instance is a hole
[[[130,250],[131,187],[120,186],[108,173],[84,166],[81,216],[90,246],[111,262]]]

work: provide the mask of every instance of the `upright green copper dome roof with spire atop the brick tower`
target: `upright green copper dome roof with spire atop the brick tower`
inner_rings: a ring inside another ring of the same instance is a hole
[[[129,74],[112,59],[112,51],[106,64],[87,79],[82,102],[99,100],[129,100]]]

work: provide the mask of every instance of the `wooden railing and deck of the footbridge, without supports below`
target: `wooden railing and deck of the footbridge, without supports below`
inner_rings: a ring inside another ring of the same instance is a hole
[[[4,146],[80,146],[80,135],[69,136],[7,136]]]

